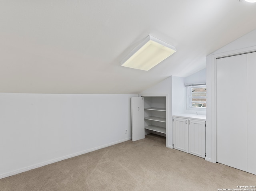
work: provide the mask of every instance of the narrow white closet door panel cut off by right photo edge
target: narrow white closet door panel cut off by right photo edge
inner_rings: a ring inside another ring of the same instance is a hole
[[[247,171],[256,174],[256,52],[247,54]]]

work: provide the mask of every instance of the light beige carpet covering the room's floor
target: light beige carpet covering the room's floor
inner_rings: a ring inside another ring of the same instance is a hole
[[[256,175],[165,147],[153,134],[0,179],[0,191],[217,191]]]

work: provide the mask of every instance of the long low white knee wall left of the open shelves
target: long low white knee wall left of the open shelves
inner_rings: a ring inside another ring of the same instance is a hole
[[[0,178],[130,140],[133,96],[1,93]]]

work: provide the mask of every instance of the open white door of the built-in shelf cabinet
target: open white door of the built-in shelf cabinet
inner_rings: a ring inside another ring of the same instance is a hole
[[[145,138],[144,100],[143,97],[132,98],[132,141]]]

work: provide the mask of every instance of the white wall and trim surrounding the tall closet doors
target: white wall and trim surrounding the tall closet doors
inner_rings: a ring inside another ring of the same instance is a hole
[[[216,162],[216,137],[215,137],[215,70],[212,59],[218,55],[228,55],[245,52],[246,49],[254,49],[256,46],[256,30],[236,39],[232,43],[218,49],[206,57],[207,70],[207,108],[206,108],[206,157],[209,161]],[[251,47],[251,48],[250,48]]]

